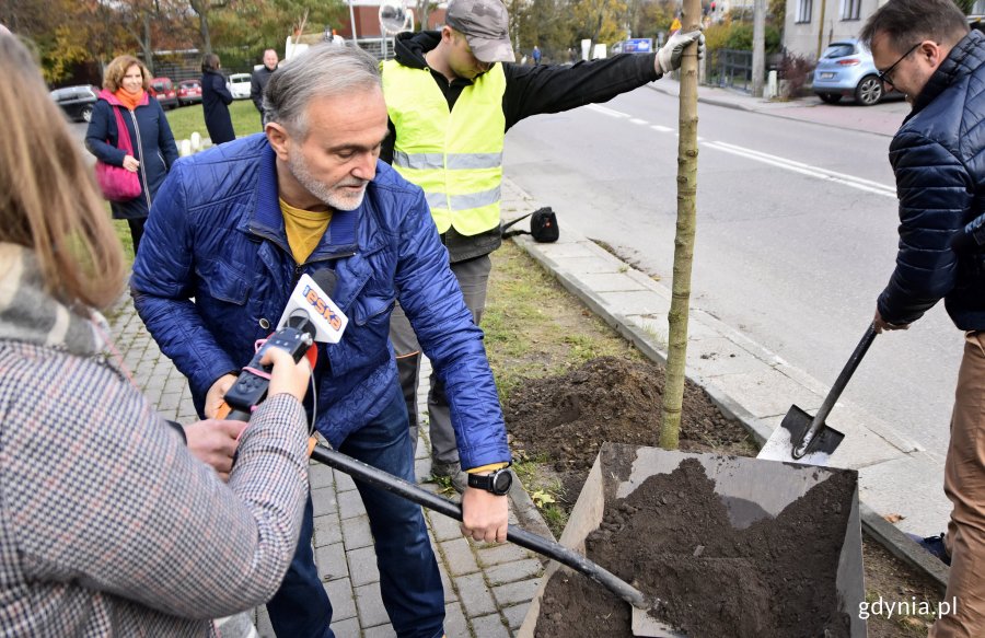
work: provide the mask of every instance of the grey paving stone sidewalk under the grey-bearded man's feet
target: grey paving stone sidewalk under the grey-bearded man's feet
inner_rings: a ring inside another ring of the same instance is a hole
[[[134,310],[129,297],[109,313],[116,348],[134,381],[166,419],[197,420],[185,378],[161,353]],[[430,374],[425,362],[421,379]],[[427,405],[427,385],[418,403]],[[427,415],[420,419],[421,437],[416,454],[417,476],[430,475]],[[325,465],[309,471],[314,504],[315,562],[334,610],[332,628],[339,638],[396,636],[380,598],[372,535],[366,509],[352,479]],[[422,487],[438,491],[436,484]],[[529,519],[533,509],[521,489],[511,494],[510,522],[517,512]],[[540,583],[543,565],[536,555],[512,544],[474,543],[462,536],[459,522],[425,510],[431,546],[438,556],[444,583],[445,630],[449,638],[508,638],[523,622]],[[537,530],[545,533],[546,527]],[[546,532],[549,533],[549,532]],[[257,631],[273,637],[264,608],[255,611]]]

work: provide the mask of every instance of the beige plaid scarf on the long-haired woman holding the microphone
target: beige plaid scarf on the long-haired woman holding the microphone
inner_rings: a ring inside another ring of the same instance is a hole
[[[73,311],[45,290],[33,251],[0,242],[0,339],[90,357],[102,351],[108,334],[102,314]]]

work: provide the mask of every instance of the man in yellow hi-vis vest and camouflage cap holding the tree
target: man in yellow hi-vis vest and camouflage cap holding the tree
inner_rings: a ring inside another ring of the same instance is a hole
[[[688,45],[697,43],[700,57],[704,36],[699,31],[675,34],[650,55],[618,55],[570,67],[525,66],[511,63],[510,19],[500,0],[452,0],[445,22],[441,31],[397,35],[395,58],[382,63],[391,135],[380,156],[424,189],[452,271],[479,325],[493,268],[489,254],[502,243],[506,131],[532,115],[606,102],[659,80],[681,66]],[[416,439],[420,348],[399,308],[393,313],[391,339]],[[450,477],[462,491],[467,478],[444,390],[434,375],[428,417],[431,474]]]

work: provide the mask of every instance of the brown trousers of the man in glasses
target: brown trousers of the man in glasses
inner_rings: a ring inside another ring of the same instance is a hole
[[[930,628],[931,638],[985,636],[985,332],[965,336],[958,373],[945,492],[953,504],[947,547],[951,576],[947,601],[957,610]]]

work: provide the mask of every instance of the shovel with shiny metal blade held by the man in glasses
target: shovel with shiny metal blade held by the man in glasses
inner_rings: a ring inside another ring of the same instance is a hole
[[[855,351],[851,352],[851,357],[848,358],[848,362],[845,363],[842,373],[838,374],[838,379],[831,386],[827,396],[824,397],[818,415],[811,418],[811,415],[796,405],[791,405],[784,421],[773,430],[756,459],[796,461],[808,465],[825,466],[831,462],[831,455],[842,444],[845,434],[826,426],[824,419],[827,418],[834,404],[842,396],[842,392],[848,385],[848,380],[851,379],[851,374],[858,368],[874,338],[876,325],[870,324],[858,346],[855,347]]]

